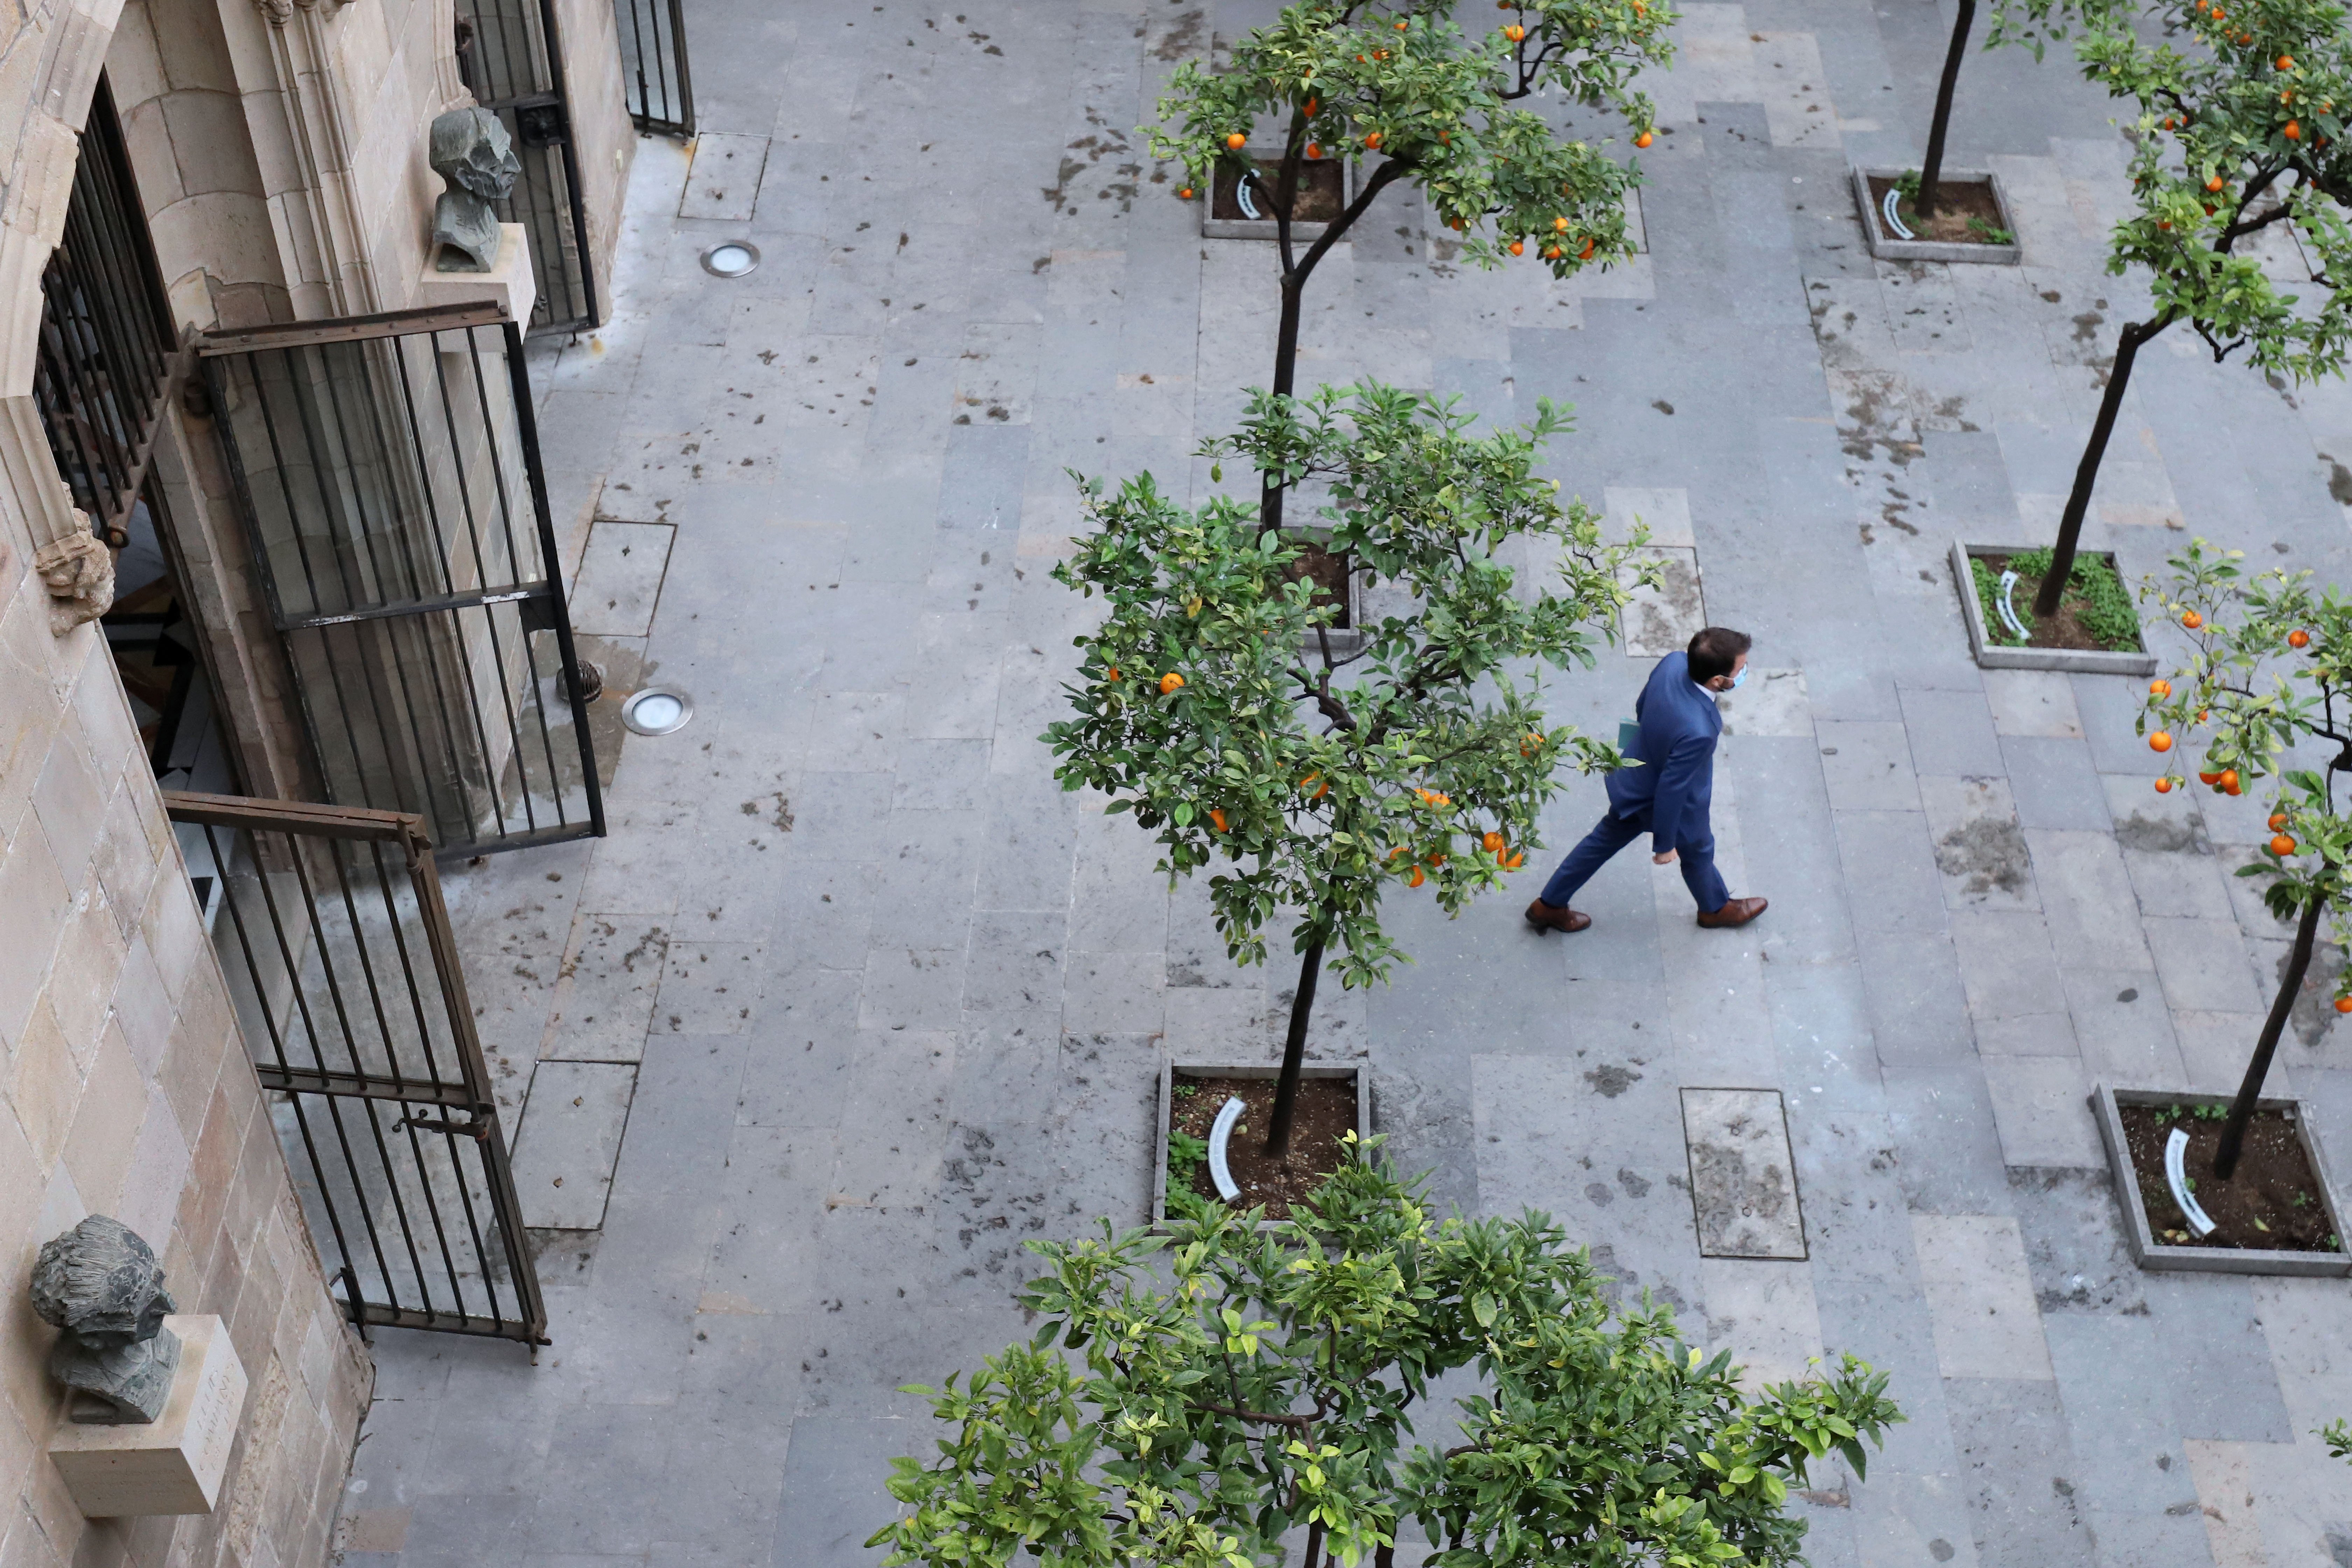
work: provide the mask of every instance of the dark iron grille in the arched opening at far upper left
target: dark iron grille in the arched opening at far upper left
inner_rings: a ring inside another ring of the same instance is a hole
[[[66,233],[40,275],[33,404],[73,505],[108,543],[120,545],[183,367],[101,73],[73,165]]]

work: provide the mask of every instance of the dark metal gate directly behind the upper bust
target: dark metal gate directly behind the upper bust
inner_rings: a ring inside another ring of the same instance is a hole
[[[506,122],[522,160],[499,219],[532,237],[532,331],[595,327],[595,268],[588,266],[588,207],[572,101],[564,94],[555,0],[456,0],[456,71],[475,101]]]

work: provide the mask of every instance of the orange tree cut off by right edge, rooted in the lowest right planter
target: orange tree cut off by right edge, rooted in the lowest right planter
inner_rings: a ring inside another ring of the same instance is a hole
[[[2140,733],[2171,762],[2204,731],[2197,780],[2239,795],[2274,778],[2272,839],[2239,877],[2265,877],[2270,912],[2296,922],[2296,945],[2279,978],[2253,1060],[2230,1105],[2213,1175],[2230,1180],[2270,1058],[2312,966],[2319,922],[2352,940],[2352,816],[2336,799],[2336,776],[2352,773],[2352,602],[2336,588],[2312,592],[2310,571],[2265,571],[2241,581],[2239,552],[2197,538],[2171,559],[2171,574],[2140,597],[2159,604],[2190,637],[2187,663],[2152,682]],[[2321,766],[2291,766],[2293,752],[2333,748]],[[2157,790],[2187,788],[2178,771]],[[2336,1011],[2352,1013],[2352,971],[2336,987]]]

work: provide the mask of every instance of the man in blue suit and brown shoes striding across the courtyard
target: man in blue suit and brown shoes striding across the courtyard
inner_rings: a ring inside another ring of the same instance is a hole
[[[1526,905],[1526,924],[1538,931],[1583,931],[1592,917],[1571,910],[1569,898],[1592,879],[1609,856],[1649,835],[1651,860],[1682,860],[1682,882],[1698,900],[1700,926],[1745,926],[1764,912],[1762,898],[1731,898],[1715,870],[1715,741],[1724,733],[1717,691],[1748,679],[1748,632],[1722,625],[1691,637],[1684,654],[1668,654],[1651,670],[1632,710],[1642,738],[1625,755],[1642,766],[1609,776],[1609,816],[1569,851],[1543,896]]]

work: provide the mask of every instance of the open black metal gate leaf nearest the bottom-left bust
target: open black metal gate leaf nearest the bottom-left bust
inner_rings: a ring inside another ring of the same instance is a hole
[[[165,795],[202,835],[198,903],[350,1321],[546,1345],[423,823]]]

